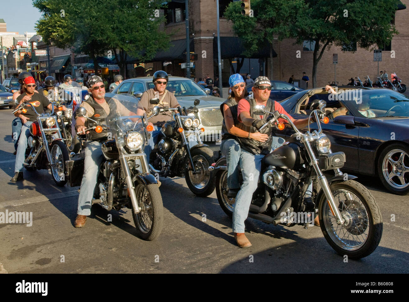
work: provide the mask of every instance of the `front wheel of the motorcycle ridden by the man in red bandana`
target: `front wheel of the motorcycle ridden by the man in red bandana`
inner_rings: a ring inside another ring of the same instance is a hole
[[[51,144],[50,154],[52,160],[50,162],[51,176],[56,185],[63,187],[67,183],[65,162],[70,159],[67,146],[62,140],[56,140]]]

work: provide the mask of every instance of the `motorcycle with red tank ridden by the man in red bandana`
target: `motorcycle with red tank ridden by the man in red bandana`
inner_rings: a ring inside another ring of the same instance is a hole
[[[54,114],[54,106],[57,106],[57,103],[50,102],[50,104],[53,104],[51,113],[39,114],[35,106],[30,103],[19,104],[12,113],[16,113],[20,109],[22,113],[26,113],[27,107],[31,106],[34,114],[37,115],[37,120],[30,125],[32,136],[27,142],[23,167],[27,171],[51,169],[54,182],[62,187],[67,183],[65,162],[69,157],[67,147],[63,142],[61,128],[58,125],[58,117]]]

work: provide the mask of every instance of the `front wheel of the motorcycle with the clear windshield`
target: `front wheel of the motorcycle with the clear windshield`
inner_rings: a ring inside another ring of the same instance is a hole
[[[145,185],[135,183],[135,194],[138,205],[142,211],[135,214],[132,209],[133,222],[135,223],[137,236],[143,240],[151,241],[158,237],[163,227],[163,203],[157,184]]]

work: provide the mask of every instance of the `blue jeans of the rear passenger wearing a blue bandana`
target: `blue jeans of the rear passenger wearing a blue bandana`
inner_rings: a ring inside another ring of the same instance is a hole
[[[240,144],[229,138],[228,140],[222,140],[220,150],[222,155],[227,159],[227,186],[229,189],[237,189],[240,187],[238,182],[238,162],[240,161]]]

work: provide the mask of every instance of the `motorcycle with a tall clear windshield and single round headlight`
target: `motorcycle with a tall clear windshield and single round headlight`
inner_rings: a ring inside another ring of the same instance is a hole
[[[144,240],[153,240],[159,236],[163,225],[163,203],[157,180],[149,173],[146,154],[143,149],[148,142],[148,132],[153,130],[146,115],[121,116],[115,110],[119,103],[131,112],[143,111],[138,100],[130,95],[116,95],[108,101],[110,114],[102,124],[86,117],[86,109],[79,107],[75,113],[88,120],[85,131],[97,133],[107,131],[107,139],[101,150],[105,161],[101,163],[100,173],[92,204],[98,204],[110,211],[121,210],[126,206],[132,210],[137,234]],[[159,114],[159,108],[153,109],[153,116]],[[77,133],[81,135],[81,133]],[[82,140],[82,137],[81,137]],[[81,185],[84,169],[83,152],[76,154],[66,163],[68,186]],[[96,197],[96,198],[95,198]]]

